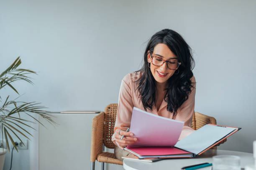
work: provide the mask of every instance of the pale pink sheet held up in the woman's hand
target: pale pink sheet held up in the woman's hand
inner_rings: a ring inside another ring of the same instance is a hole
[[[148,113],[133,107],[130,132],[138,142],[129,147],[174,146],[181,134],[184,122]]]

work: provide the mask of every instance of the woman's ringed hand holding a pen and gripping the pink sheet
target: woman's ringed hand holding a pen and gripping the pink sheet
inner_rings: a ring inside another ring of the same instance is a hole
[[[124,135],[124,138],[121,140],[123,135]],[[133,137],[133,133],[131,132],[126,132],[125,130],[117,129],[115,130],[115,133],[112,136],[112,141],[119,148],[124,148],[127,145],[132,145],[133,143],[136,143],[137,138]]]

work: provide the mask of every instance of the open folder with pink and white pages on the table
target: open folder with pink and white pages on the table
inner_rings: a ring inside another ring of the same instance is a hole
[[[207,124],[178,141],[183,125],[133,107],[130,132],[138,142],[124,149],[139,159],[196,157],[241,129]]]

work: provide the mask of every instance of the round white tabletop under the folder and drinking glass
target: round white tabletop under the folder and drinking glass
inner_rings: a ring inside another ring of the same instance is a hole
[[[196,158],[176,158],[160,160],[154,163],[143,163],[133,160],[124,160],[123,168],[125,170],[180,170],[184,166],[195,165],[200,163],[212,163],[214,155],[237,155],[241,158],[241,168],[248,164],[254,163],[252,153],[243,153],[229,150],[207,150]],[[210,170],[211,167],[200,168],[199,170]]]

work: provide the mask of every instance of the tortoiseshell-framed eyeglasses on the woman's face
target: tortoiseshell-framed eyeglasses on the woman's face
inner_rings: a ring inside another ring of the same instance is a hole
[[[161,57],[157,55],[150,54],[151,62],[155,66],[161,66],[166,62],[166,65],[168,69],[170,70],[177,70],[179,68],[179,65],[181,65],[181,62],[178,61],[169,61],[169,60],[163,60]]]

